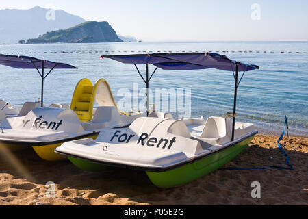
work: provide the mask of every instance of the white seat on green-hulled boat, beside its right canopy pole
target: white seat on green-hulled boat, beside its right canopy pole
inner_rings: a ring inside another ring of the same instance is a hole
[[[230,118],[210,117],[205,123],[201,138],[209,144],[224,144],[231,140],[231,131]]]

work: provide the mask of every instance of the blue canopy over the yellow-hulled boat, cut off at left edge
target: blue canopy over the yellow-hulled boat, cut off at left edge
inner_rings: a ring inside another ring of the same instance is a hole
[[[75,66],[71,66],[69,64],[60,63],[60,62],[51,62],[48,60],[39,60],[35,57],[0,54],[0,64],[3,64],[5,66],[10,66],[12,68],[42,69],[43,63],[44,63],[45,69],[51,69],[51,68],[53,69],[63,69],[63,68],[76,69]]]

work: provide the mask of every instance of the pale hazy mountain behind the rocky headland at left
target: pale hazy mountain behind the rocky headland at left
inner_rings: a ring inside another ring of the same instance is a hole
[[[63,10],[35,7],[29,10],[0,10],[0,43],[17,43],[39,34],[67,29],[85,20]]]

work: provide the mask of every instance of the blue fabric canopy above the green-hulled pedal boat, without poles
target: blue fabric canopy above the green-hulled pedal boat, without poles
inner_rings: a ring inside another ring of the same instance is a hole
[[[216,68],[219,70],[239,71],[259,69],[253,64],[244,64],[230,60],[217,53],[153,53],[143,55],[102,55],[126,64],[153,64],[164,70],[197,70]]]

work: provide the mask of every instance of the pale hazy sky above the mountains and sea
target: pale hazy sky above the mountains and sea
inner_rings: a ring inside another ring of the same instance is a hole
[[[307,41],[307,0],[0,0],[61,9],[148,41]]]

